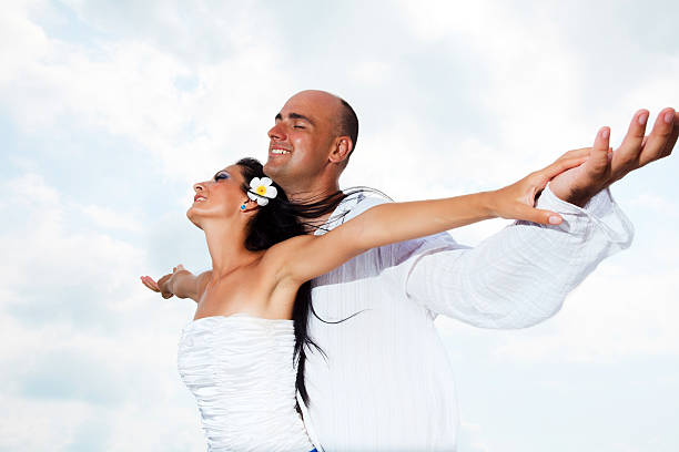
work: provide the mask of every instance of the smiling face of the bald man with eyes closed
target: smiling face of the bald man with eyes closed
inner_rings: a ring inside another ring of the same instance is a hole
[[[293,95],[268,131],[268,158],[264,173],[283,189],[321,174],[334,143],[334,117],[340,101],[321,91]]]

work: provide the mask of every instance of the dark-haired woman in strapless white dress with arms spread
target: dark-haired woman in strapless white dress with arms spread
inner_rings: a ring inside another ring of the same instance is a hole
[[[343,194],[312,205],[288,203],[251,158],[195,184],[186,215],[205,233],[212,270],[193,276],[178,266],[158,284],[142,281],[165,298],[197,302],[178,364],[199,402],[209,450],[313,450],[295,410],[296,392],[310,402],[304,361],[313,346],[306,335],[311,279],[369,248],[487,218],[559,224],[558,214],[533,208],[535,196],[586,154],[570,152],[495,192],[378,205],[318,236],[305,235],[298,218],[331,212]]]

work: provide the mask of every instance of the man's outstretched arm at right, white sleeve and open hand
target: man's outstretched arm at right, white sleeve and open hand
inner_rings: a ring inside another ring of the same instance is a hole
[[[634,228],[608,186],[668,156],[679,134],[672,109],[643,138],[647,119],[647,111],[637,112],[614,153],[604,127],[589,160],[550,182],[537,207],[558,212],[563,224],[517,222],[473,249],[426,244],[408,259],[406,294],[435,314],[479,327],[523,328],[553,316],[602,259],[631,243]]]

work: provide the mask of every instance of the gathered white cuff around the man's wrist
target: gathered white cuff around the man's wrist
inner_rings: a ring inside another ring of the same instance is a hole
[[[635,236],[631,222],[618,207],[608,188],[597,193],[585,206],[578,207],[557,197],[547,185],[536,207],[554,210],[564,218],[560,225],[545,227],[581,236],[600,232],[622,249],[629,247]]]

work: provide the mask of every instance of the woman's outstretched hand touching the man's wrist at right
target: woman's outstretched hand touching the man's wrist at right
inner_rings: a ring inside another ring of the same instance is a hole
[[[551,165],[530,173],[511,185],[490,192],[490,210],[501,218],[525,219],[543,225],[560,224],[564,219],[556,212],[534,207],[536,196],[554,177],[582,164],[589,157],[590,151],[591,147],[569,151]]]

